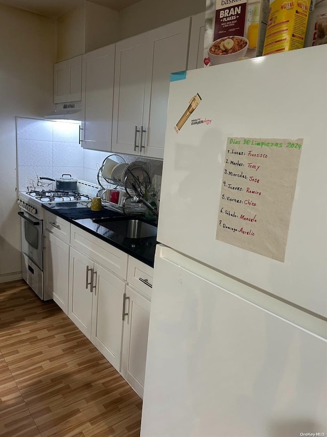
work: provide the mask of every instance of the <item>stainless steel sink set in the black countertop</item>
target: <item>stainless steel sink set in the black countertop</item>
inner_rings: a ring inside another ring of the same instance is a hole
[[[93,222],[117,234],[124,235],[126,238],[146,238],[157,235],[156,226],[137,218],[124,218],[120,220],[94,218]]]

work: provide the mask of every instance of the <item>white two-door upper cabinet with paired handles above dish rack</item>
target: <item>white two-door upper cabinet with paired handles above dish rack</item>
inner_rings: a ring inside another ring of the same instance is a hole
[[[112,151],[163,158],[170,73],[186,70],[190,18],[116,43]]]

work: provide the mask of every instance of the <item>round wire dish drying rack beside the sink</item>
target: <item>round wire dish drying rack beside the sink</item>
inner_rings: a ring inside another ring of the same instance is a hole
[[[107,200],[103,200],[103,202],[111,208],[126,215],[144,214],[147,209],[146,206],[139,201],[135,202],[134,199],[137,199],[137,197],[140,196],[144,198],[147,194],[147,190],[150,188],[150,165],[145,161],[134,161],[128,164],[123,171],[122,180],[105,178],[102,176],[102,170],[105,166],[106,160],[112,156],[119,157],[121,159],[121,164],[126,164],[125,159],[118,154],[108,155],[103,160],[97,174],[98,184],[99,187],[101,187],[99,192],[103,192],[106,189],[115,189],[120,187],[125,188],[127,196],[121,205],[109,202]],[[118,162],[117,164],[120,163]]]

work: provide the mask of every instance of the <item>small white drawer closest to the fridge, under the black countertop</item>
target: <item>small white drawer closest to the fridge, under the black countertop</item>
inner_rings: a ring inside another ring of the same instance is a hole
[[[127,282],[151,298],[153,268],[129,256]]]

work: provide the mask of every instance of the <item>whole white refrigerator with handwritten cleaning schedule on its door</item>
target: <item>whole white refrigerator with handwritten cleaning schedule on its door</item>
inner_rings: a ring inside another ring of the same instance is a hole
[[[172,75],[141,437],[327,433],[327,45]]]

